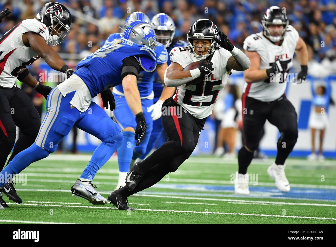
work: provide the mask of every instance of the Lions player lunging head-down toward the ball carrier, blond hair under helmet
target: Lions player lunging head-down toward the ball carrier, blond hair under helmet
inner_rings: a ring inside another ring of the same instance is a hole
[[[120,39],[105,44],[80,61],[74,74],[50,92],[47,113],[33,145],[17,154],[0,175],[13,176],[31,163],[47,157],[76,125],[99,138],[102,143],[94,151],[71,191],[92,204],[106,204],[107,200],[94,189],[96,187],[92,184],[92,179],[119,148],[123,135],[119,125],[91,99],[104,90],[110,90],[110,87],[122,84],[127,104],[135,115],[135,133],[137,143],[140,143],[146,132],[146,122],[136,77],[141,69],[155,70],[155,46],[152,26],[135,21],[127,26]],[[110,107],[114,108],[113,105]],[[4,180],[7,179],[5,177]],[[0,183],[0,189],[5,182]]]

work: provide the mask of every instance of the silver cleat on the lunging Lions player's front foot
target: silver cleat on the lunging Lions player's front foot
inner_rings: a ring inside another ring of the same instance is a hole
[[[108,201],[102,197],[96,190],[97,188],[92,181],[80,178],[76,180],[76,183],[71,187],[71,192],[73,196],[77,196],[77,198],[83,197],[84,199],[91,202],[93,205],[104,205],[107,204]]]

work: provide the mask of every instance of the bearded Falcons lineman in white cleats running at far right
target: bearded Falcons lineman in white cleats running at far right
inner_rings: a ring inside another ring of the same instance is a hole
[[[293,82],[304,82],[307,76],[308,52],[298,32],[288,25],[287,15],[277,6],[262,16],[263,31],[248,36],[244,41],[251,67],[244,72],[246,80],[243,101],[243,132],[245,143],[238,153],[239,170],[236,173],[235,193],[249,194],[247,167],[253,151],[259,145],[260,131],[266,119],[281,132],[277,142],[278,154],[267,169],[280,191],[290,190],[285,175],[285,161],[298,137],[297,114],[285,95],[288,71],[296,53],[301,72]]]

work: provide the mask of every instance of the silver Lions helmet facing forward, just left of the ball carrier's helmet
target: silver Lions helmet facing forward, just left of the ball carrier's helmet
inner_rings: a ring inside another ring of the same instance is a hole
[[[155,30],[157,41],[165,47],[170,46],[176,29],[173,19],[165,13],[160,13],[152,18],[151,25]]]

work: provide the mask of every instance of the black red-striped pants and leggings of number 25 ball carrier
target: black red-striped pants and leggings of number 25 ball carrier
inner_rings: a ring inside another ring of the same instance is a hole
[[[149,157],[139,162],[139,169],[145,173],[133,191],[118,190],[124,196],[133,195],[159,182],[169,172],[174,172],[190,157],[206,118],[198,119],[168,98],[162,105],[162,124],[168,141]]]

